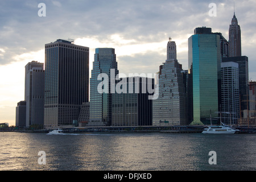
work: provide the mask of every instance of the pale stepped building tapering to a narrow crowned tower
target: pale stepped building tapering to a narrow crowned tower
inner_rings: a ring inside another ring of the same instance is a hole
[[[169,38],[167,60],[159,67],[159,97],[153,100],[153,126],[187,125],[185,79],[176,55],[176,43]]]

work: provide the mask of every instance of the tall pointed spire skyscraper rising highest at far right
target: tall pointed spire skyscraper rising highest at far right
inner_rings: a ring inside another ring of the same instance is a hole
[[[234,13],[229,26],[229,57],[237,57],[241,55],[241,29]]]

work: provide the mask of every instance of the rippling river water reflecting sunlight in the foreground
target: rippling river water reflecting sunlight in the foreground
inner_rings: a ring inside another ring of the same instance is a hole
[[[256,170],[255,134],[2,132],[0,138],[0,171]],[[216,164],[209,164],[212,157]]]

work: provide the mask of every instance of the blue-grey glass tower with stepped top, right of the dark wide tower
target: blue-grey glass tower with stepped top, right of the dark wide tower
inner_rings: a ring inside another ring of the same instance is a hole
[[[114,93],[111,88],[115,85],[115,77],[117,74],[118,69],[115,49],[96,48],[92,77],[90,78],[90,122],[88,126],[111,125],[112,93]],[[108,84],[101,86],[101,89],[106,90],[104,93],[100,93],[98,90],[98,86],[103,81],[101,77],[98,80],[98,76],[100,75],[105,75],[107,77],[106,79],[108,79]]]

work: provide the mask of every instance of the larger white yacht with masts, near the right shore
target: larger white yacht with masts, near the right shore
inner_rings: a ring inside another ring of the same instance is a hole
[[[221,126],[209,126],[208,128],[204,129],[202,133],[208,133],[208,134],[234,134],[236,133],[237,129],[234,129],[233,127],[221,125]]]

